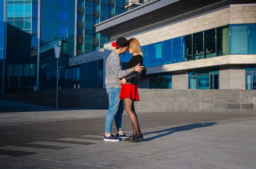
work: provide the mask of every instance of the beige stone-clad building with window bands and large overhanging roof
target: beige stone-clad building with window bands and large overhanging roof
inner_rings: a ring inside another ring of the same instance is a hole
[[[96,31],[137,38],[147,76],[140,88],[256,89],[255,0],[153,0],[96,24]],[[103,59],[104,48],[70,58],[70,65]],[[130,54],[121,55],[128,62]],[[104,70],[104,68],[103,68]],[[104,76],[103,76],[104,78]]]

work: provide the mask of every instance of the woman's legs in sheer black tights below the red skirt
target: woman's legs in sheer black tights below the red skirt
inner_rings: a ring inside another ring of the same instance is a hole
[[[130,98],[124,98],[124,106],[125,111],[130,117],[130,120],[132,122],[132,128],[133,128],[133,135],[132,136],[139,136],[141,135],[140,129],[139,129],[139,122],[137,119],[137,115],[135,113],[134,109],[134,101]]]

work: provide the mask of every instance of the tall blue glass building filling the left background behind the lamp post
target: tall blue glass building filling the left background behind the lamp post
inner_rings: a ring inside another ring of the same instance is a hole
[[[0,3],[1,94],[55,88],[54,47],[61,47],[59,85],[72,87],[90,74],[102,87],[101,60],[69,67],[69,58],[103,47],[110,36],[94,24],[127,9],[128,0],[2,0]],[[97,69],[90,69],[90,65]],[[90,70],[82,72],[82,70]],[[83,74],[83,77],[80,76]],[[98,79],[98,81],[97,81]],[[100,80],[99,80],[100,79]],[[90,85],[87,85],[89,87]],[[86,87],[86,85],[83,85]]]

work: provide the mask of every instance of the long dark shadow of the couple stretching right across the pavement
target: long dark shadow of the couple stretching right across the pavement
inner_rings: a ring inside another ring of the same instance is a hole
[[[143,133],[143,135],[147,135],[147,134],[152,134],[152,133],[162,133],[162,132],[168,131],[167,133],[162,133],[157,136],[145,138],[144,140],[141,140],[140,142],[154,140],[155,138],[164,137],[164,136],[170,135],[170,134],[178,132],[178,131],[187,131],[187,130],[196,129],[196,128],[200,128],[200,127],[209,127],[209,126],[215,125],[216,123],[217,122],[194,123],[194,124],[189,124],[189,125],[172,127],[170,129],[164,129],[164,130],[159,130],[159,131]]]

